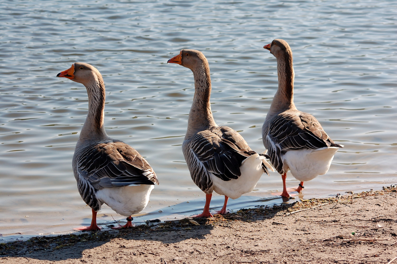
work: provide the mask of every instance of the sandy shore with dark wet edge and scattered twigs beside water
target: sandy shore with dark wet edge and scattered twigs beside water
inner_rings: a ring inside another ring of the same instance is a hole
[[[396,208],[397,185],[297,198],[208,219],[1,243],[0,263],[387,263],[397,256]]]

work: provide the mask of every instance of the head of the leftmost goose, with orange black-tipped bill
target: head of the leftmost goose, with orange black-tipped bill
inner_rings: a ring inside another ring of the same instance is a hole
[[[75,62],[69,69],[61,71],[56,75],[56,77],[65,77],[76,83],[82,83],[85,86],[93,81],[97,82],[99,79],[102,79],[100,76],[99,71],[94,66],[82,62]]]

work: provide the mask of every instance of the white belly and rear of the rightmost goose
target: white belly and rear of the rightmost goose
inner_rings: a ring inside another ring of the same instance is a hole
[[[295,179],[299,181],[310,181],[328,172],[333,155],[338,147],[330,146],[318,149],[303,148],[299,150],[288,150],[281,156],[283,169],[289,168]]]

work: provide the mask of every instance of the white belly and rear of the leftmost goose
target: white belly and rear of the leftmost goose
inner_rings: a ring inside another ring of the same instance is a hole
[[[104,188],[96,192],[96,198],[104,202],[116,213],[130,216],[141,212],[149,202],[149,195],[154,185],[133,185]]]

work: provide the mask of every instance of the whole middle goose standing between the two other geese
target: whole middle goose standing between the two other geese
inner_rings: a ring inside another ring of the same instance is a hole
[[[225,214],[229,197],[237,199],[251,192],[262,173],[269,174],[269,169],[273,168],[265,160],[266,152],[256,153],[237,131],[215,123],[210,106],[210,68],[204,54],[198,50],[181,50],[168,63],[191,69],[195,80],[195,94],[182,144],[191,178],[206,194],[202,214],[194,217],[212,217],[209,207],[213,191],[225,196],[224,205],[217,212]]]

